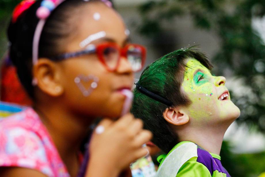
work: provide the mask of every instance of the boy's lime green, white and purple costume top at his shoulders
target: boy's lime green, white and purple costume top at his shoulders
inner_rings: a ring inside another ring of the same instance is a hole
[[[190,157],[185,160],[183,157]],[[167,155],[158,157],[156,176],[167,177],[231,177],[221,164],[221,157],[190,141],[177,144]],[[179,168],[180,167],[180,168]]]

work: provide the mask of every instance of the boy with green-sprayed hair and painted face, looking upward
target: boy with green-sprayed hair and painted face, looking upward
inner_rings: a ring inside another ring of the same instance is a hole
[[[203,53],[189,48],[161,57],[141,74],[132,112],[167,153],[158,157],[156,176],[230,176],[219,153],[240,110],[230,100],[226,79],[213,76],[211,68]]]

